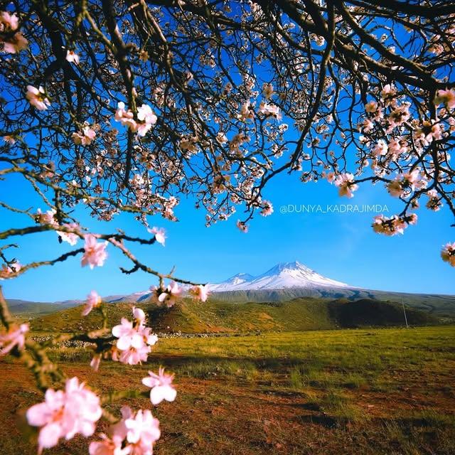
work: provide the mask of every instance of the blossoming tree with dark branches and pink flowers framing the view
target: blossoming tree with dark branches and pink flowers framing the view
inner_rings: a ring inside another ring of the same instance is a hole
[[[417,223],[419,205],[455,215],[453,2],[1,5],[0,178],[22,178],[42,210],[0,200],[12,223],[0,232],[0,279],[74,256],[82,267],[102,267],[116,248],[130,264],[122,272],[159,280],[151,287],[156,304],[172,306],[183,294],[205,301],[207,287],[156,271],[129,243],[164,247],[166,233],[150,228],[147,215],[176,220],[182,195],[205,208],[208,225],[245,210],[237,227],[247,232],[255,213],[273,212],[262,193],[282,172],[299,173],[302,182],[326,178],[348,198],[360,185],[384,186],[402,201],[400,213],[372,220],[385,235]],[[100,220],[132,213],[148,235],[90,232],[74,218],[75,205]],[[16,217],[30,224],[16,228]],[[44,231],[73,250],[29,264],[20,250],[11,254],[10,237]],[[455,266],[455,243],[441,242],[441,258]],[[95,290],[81,318],[91,311],[103,316],[99,330],[63,338],[91,343],[94,370],[106,358],[147,360],[158,338],[144,311],[108,327]],[[94,434],[103,417],[112,425],[90,454],[152,454],[161,429],[149,410],[109,415],[90,385],[65,378],[49,360],[54,341],[33,341],[28,324],[14,323],[1,292],[0,319],[0,355],[23,359],[45,392],[27,413],[40,449]],[[173,375],[163,369],[143,385],[154,404],[176,398]]]

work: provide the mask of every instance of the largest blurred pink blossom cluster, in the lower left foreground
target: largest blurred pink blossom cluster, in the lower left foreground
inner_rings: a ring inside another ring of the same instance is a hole
[[[41,427],[38,451],[56,446],[60,438],[71,439],[80,433],[85,437],[95,432],[102,415],[100,399],[77,378],[68,379],[65,392],[48,389],[45,401],[27,411],[28,424]]]

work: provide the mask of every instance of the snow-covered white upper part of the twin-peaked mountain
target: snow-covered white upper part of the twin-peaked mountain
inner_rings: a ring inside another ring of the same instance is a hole
[[[258,277],[240,273],[224,282],[210,284],[212,292],[315,287],[340,288],[348,284],[323,277],[298,261],[277,264]]]

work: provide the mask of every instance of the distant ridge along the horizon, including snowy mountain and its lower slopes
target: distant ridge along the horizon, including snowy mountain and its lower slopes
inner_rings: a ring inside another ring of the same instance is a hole
[[[310,297],[313,299],[346,299],[358,301],[373,299],[390,301],[421,309],[434,316],[452,319],[455,316],[455,296],[443,294],[412,294],[352,287],[336,279],[323,277],[299,261],[280,262],[262,274],[254,276],[237,273],[225,281],[209,284],[210,300],[227,303],[280,302]],[[112,303],[148,303],[150,291],[117,294],[103,297]],[[11,311],[16,314],[46,314],[82,304],[80,300],[55,303],[36,303],[10,300]]]

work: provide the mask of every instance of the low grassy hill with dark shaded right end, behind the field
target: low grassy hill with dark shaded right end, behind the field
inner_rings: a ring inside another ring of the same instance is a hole
[[[307,331],[362,326],[402,326],[402,307],[369,299],[321,301],[299,298],[287,302],[205,304],[184,299],[171,309],[154,304],[138,304],[149,316],[149,326],[157,332],[247,333],[254,331]],[[109,326],[131,314],[132,304],[107,304]],[[100,326],[100,314],[83,318],[81,306],[38,316],[31,321],[34,331],[91,330]],[[439,323],[423,311],[407,308],[411,326]]]

